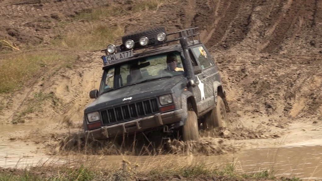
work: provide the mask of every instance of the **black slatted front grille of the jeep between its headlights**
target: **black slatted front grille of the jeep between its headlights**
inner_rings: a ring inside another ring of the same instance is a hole
[[[103,124],[123,122],[159,112],[157,98],[126,104],[108,110],[102,110]]]

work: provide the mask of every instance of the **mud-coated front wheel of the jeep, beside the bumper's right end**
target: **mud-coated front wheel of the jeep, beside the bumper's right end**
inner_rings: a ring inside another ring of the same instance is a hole
[[[198,118],[193,110],[188,110],[188,117],[182,127],[183,141],[199,140]]]

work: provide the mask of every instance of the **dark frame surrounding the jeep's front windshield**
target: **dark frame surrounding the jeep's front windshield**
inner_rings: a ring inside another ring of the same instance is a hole
[[[140,82],[129,84],[129,85],[123,85],[121,87],[117,87],[117,88],[111,89],[109,91],[105,91],[103,89],[103,86],[105,84],[104,82],[106,81],[106,76],[108,75],[108,73],[106,71],[109,71],[110,69],[114,68],[114,72],[116,72],[117,69],[120,69],[120,66],[122,66],[124,64],[127,64],[128,62],[136,61],[136,60],[139,60],[139,59],[142,59],[142,58],[153,57],[153,56],[157,56],[157,55],[169,54],[169,53],[172,53],[172,52],[178,53],[180,55],[182,67],[184,68],[184,73],[175,74],[175,75],[172,75],[171,77],[177,76],[177,75],[182,75],[182,76],[186,77],[187,76],[187,71],[186,71],[185,58],[184,58],[184,54],[182,52],[182,49],[180,49],[180,50],[178,50],[178,49],[173,50],[172,49],[172,50],[158,52],[158,53],[156,53],[156,52],[148,53],[148,54],[144,54],[142,56],[136,56],[134,58],[128,59],[127,61],[122,61],[122,62],[118,62],[117,64],[108,65],[108,66],[103,67],[103,74],[102,74],[102,79],[101,79],[100,87],[99,87],[99,95],[107,93],[107,92],[110,92],[110,91],[113,91],[113,90],[121,89],[121,88],[124,88],[124,87],[128,87],[128,86],[132,86],[132,85],[147,82],[147,81],[142,81],[142,82],[140,81]],[[115,79],[116,76],[113,76],[113,77],[114,77],[113,79]],[[155,81],[155,80],[163,79],[163,78],[166,78],[166,77],[170,77],[170,76],[160,77],[160,78],[157,78],[157,79],[152,79],[150,81]]]

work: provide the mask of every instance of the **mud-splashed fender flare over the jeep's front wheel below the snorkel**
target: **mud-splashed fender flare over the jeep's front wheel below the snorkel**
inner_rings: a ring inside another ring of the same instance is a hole
[[[196,101],[194,100],[194,94],[192,93],[192,92],[190,92],[190,91],[185,91],[185,92],[183,92],[182,94],[181,94],[181,109],[183,110],[182,111],[182,116],[181,116],[181,120],[179,121],[179,122],[177,122],[177,123],[175,123],[175,127],[176,128],[178,128],[178,127],[180,127],[180,126],[183,126],[183,125],[185,125],[185,122],[186,122],[186,120],[187,120],[187,117],[188,117],[188,112],[187,112],[187,110],[188,110],[188,105],[187,105],[187,100],[189,99],[189,98],[192,98],[193,99],[193,102],[192,102],[192,106],[193,106],[193,108],[194,108],[194,111],[196,112],[196,114],[197,114],[197,104],[196,104]],[[198,115],[198,114],[197,114]]]

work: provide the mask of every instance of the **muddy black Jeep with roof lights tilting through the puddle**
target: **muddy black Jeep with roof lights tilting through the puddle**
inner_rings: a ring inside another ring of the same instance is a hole
[[[156,27],[108,45],[100,88],[84,110],[85,133],[103,139],[180,130],[183,140],[197,140],[201,128],[227,126],[221,77],[196,29]]]

